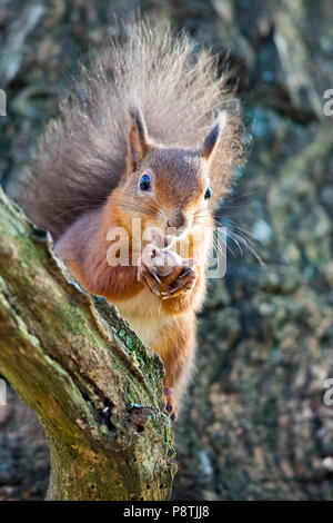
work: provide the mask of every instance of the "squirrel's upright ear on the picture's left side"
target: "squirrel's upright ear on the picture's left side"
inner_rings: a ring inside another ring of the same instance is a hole
[[[147,155],[149,141],[145,125],[139,109],[130,107],[129,110],[133,122],[129,135],[127,164],[128,171],[133,172],[142,158]]]

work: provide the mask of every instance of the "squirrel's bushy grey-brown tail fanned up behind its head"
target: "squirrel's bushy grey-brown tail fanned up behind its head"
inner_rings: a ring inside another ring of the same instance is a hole
[[[185,34],[138,22],[124,43],[111,42],[61,102],[39,142],[18,196],[27,215],[59,236],[85,209],[101,205],[125,168],[129,106],[138,106],[149,135],[165,146],[202,145],[230,103],[226,77],[208,51],[193,52]],[[224,127],[212,165],[215,195],[242,156],[239,111]]]

